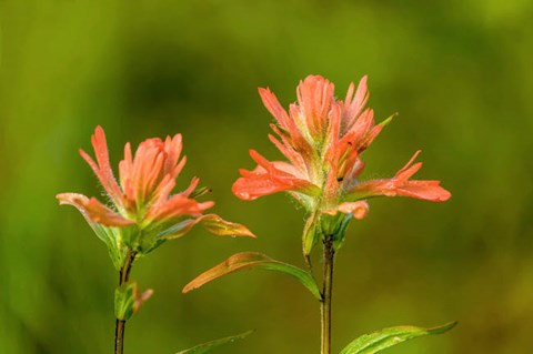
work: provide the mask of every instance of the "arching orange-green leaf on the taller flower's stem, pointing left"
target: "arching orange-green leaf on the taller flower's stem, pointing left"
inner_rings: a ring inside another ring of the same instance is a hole
[[[188,293],[191,290],[198,289],[203,284],[211,282],[212,280],[221,277],[222,275],[247,269],[263,269],[289,274],[302,283],[303,286],[305,286],[314,295],[314,297],[318,300],[322,299],[319,285],[316,285],[316,282],[311,274],[299,269],[298,266],[275,261],[268,255],[257,252],[242,252],[233,254],[224,262],[213,266],[209,271],[203,272],[198,277],[192,280],[185,285],[185,287],[183,287],[183,293]]]

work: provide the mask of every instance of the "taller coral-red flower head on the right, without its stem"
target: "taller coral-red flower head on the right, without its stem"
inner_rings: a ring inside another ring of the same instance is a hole
[[[289,111],[270,89],[259,89],[259,93],[276,122],[271,128],[278,138],[269,134],[269,139],[288,161],[269,161],[250,150],[258,166],[252,171],[240,170],[241,178],[232,188],[238,198],[254,200],[288,192],[312,215],[308,220],[306,229],[310,229],[318,219],[323,223],[324,218],[338,213],[364,218],[368,213],[364,200],[370,196],[402,195],[433,202],[451,196],[439,185],[440,181],[410,180],[422,166],[421,162],[412,164],[419,152],[392,179],[359,180],[364,169],[361,153],[392,120],[391,117],[375,124],[373,111],[364,108],[369,99],[366,77],[356,90],[352,82],[341,101],[334,97],[333,83],[320,75],[309,75],[300,81],[298,102],[291,104]],[[339,226],[341,216],[333,223]],[[328,224],[322,225],[321,231],[335,231]]]

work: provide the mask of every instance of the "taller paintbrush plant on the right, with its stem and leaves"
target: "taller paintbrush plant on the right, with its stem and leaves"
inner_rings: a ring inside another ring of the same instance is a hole
[[[285,273],[304,285],[320,302],[321,353],[331,354],[333,269],[338,250],[344,241],[351,219],[363,219],[369,212],[366,199],[372,196],[411,196],[443,202],[451,194],[440,181],[411,180],[422,166],[412,159],[391,179],[361,181],[363,151],[379,135],[393,117],[380,124],[374,113],[365,109],[369,98],[366,77],[358,89],[350,84],[344,101],[334,97],[333,83],[319,75],[300,82],[298,102],[285,111],[269,89],[259,89],[266,109],[276,123],[271,124],[278,136],[270,141],[286,161],[269,161],[254,150],[250,155],[258,163],[252,170],[240,170],[241,178],[233,184],[233,193],[243,200],[288,192],[306,211],[303,230],[303,253],[308,271],[276,261],[257,252],[241,252],[203,272],[192,280],[183,292],[198,289],[227,274],[245,269],[266,269]],[[322,286],[319,286],[311,266],[310,253],[321,241]],[[399,326],[365,334],[351,342],[342,354],[362,353],[369,347],[380,352],[389,346],[420,335],[444,333],[455,323],[422,328]],[[376,347],[375,343],[380,342]]]

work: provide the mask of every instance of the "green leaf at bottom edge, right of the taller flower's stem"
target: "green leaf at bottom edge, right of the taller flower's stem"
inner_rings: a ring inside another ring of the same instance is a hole
[[[430,334],[441,334],[453,328],[457,323],[451,322],[443,326],[423,328],[415,326],[398,326],[364,334],[350,343],[340,354],[373,354],[399,343]]]

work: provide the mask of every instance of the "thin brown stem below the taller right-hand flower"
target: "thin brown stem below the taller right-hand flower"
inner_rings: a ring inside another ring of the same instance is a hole
[[[331,295],[333,290],[333,235],[324,235],[324,277],[322,286],[322,302],[320,312],[322,314],[322,354],[331,353]]]

